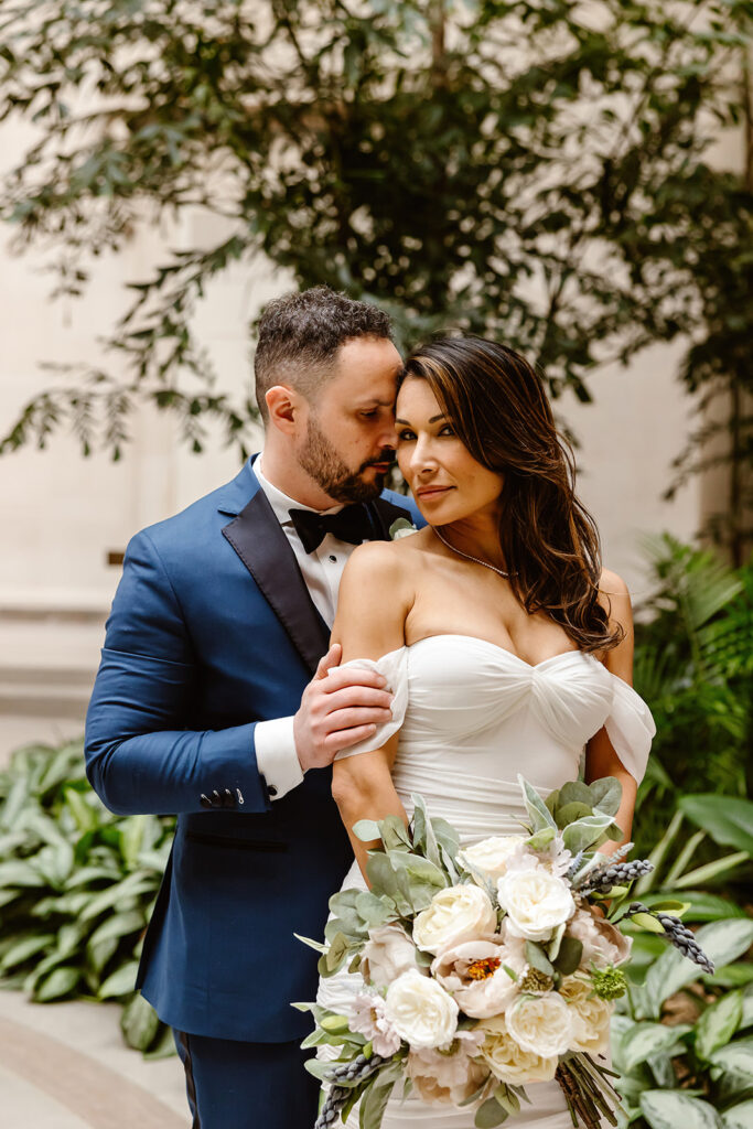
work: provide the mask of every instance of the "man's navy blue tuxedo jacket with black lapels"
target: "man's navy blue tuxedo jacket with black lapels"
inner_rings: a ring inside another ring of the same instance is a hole
[[[400,495],[367,509],[375,539],[399,517],[423,524]],[[314,998],[316,955],[294,931],[322,936],[352,855],[331,770],[272,802],[254,729],[298,709],[327,646],[251,462],[130,542],[87,715],[87,774],[114,812],[177,813],[138,987],[180,1031],[278,1042],[310,1026],[290,1003]],[[222,806],[207,809],[202,794]]]

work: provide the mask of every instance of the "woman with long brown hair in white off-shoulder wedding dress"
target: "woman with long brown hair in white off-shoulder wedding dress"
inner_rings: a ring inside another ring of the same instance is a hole
[[[628,588],[601,569],[542,382],[494,342],[434,341],[408,359],[396,427],[397,462],[428,525],[357,549],[342,578],[333,640],[394,693],[392,723],[335,760],[333,794],[356,855],[343,886],[366,886],[376,846],[353,824],[388,814],[408,823],[414,793],[464,844],[516,833],[518,772],[542,796],[581,762],[587,782],[616,777],[627,840],[654,723],[630,685]],[[322,981],[318,1001],[347,1013],[361,983],[341,972]],[[527,1089],[517,1124],[571,1124],[555,1082]],[[391,1100],[384,1129],[471,1129],[473,1119],[414,1092]]]

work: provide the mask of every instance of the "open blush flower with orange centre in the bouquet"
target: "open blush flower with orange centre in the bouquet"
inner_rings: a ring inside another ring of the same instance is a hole
[[[431,965],[431,973],[443,988],[453,994],[461,1009],[474,1019],[500,1015],[517,996],[516,980],[505,971],[505,965],[518,979],[526,961],[519,952],[508,948],[501,937],[483,940],[464,940],[445,948]]]

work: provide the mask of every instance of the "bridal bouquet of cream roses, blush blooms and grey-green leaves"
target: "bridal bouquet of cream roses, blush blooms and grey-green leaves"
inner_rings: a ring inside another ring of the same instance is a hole
[[[349,1015],[295,1005],[316,1019],[304,1047],[339,1049],[334,1061],[307,1064],[330,1085],[316,1129],[344,1121],[359,1099],[361,1129],[378,1129],[397,1083],[427,1103],[472,1108],[485,1129],[528,1101],[526,1084],[552,1078],[573,1126],[616,1124],[603,1052],[627,987],[620,965],[631,939],[619,924],[664,931],[712,971],[668,912],[681,903],[629,902],[631,883],[651,869],[622,861],[632,844],[597,852],[621,838],[618,780],[566,784],[544,802],[518,779],[528,813],[520,834],[461,850],[420,796],[410,830],[393,815],[356,824],[360,839],[382,842],[369,852],[371,890],[332,898],[326,944],[300,938],[321,953],[322,975],[348,961],[364,980]]]

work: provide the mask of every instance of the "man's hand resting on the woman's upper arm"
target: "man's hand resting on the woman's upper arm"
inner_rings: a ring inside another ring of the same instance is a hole
[[[304,772],[326,768],[341,749],[370,737],[377,725],[392,719],[392,694],[383,689],[386,680],[376,671],[348,666],[327,674],[341,657],[342,647],[335,642],[316,667],[292,720]]]

